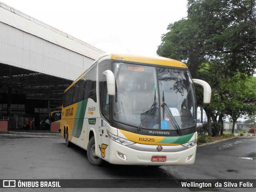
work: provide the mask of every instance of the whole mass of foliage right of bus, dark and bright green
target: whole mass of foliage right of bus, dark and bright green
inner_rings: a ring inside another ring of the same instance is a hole
[[[212,87],[212,101],[198,105],[214,122],[255,110],[255,0],[188,0],[188,16],[168,25],[157,54],[185,62],[193,78]],[[254,106],[254,107],[253,107]],[[221,122],[222,121],[222,122]]]

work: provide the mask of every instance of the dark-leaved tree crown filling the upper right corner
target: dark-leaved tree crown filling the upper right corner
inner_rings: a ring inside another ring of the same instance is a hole
[[[220,72],[251,76],[256,68],[255,0],[189,0],[188,19],[200,25],[202,54]]]

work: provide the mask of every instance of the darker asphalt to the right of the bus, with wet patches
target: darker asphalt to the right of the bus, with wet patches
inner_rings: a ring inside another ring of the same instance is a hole
[[[256,179],[256,137],[198,147],[194,165],[165,168],[184,179]]]

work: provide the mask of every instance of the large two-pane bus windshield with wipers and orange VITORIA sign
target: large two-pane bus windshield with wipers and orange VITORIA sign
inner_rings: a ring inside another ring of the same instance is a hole
[[[115,62],[116,122],[139,129],[196,126],[195,94],[188,70]]]

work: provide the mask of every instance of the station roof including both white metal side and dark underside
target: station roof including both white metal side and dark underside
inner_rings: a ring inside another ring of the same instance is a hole
[[[0,92],[62,99],[104,51],[0,2]]]

